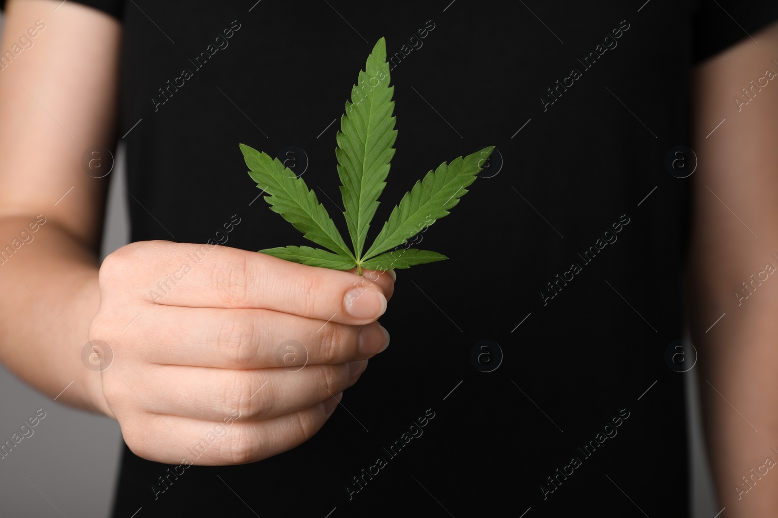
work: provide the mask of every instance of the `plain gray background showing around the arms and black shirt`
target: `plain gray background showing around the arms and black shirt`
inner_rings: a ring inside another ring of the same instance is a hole
[[[122,189],[124,149],[121,144],[110,179],[103,258],[129,242],[128,210]],[[710,468],[703,450],[696,370],[678,376],[686,378],[686,398],[691,408],[688,421],[692,517],[713,518],[720,507],[713,498]],[[122,444],[118,423],[53,402],[0,365],[0,443],[9,440],[38,408],[44,408],[46,417],[33,428],[33,435],[0,459],[0,514],[35,518],[108,516]],[[121,515],[130,518],[137,511],[121,509]],[[668,513],[671,513],[669,509]],[[143,518],[142,510],[135,516]]]

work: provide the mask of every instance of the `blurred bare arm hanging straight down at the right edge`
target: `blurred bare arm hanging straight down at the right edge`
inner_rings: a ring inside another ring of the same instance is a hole
[[[699,167],[688,265],[722,516],[752,518],[778,513],[778,274],[766,267],[778,268],[778,81],[766,74],[778,71],[778,24],[753,37],[759,43],[747,37],[694,72]]]

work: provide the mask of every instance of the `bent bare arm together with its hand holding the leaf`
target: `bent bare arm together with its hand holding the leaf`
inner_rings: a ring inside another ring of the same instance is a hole
[[[0,242],[46,218],[0,266],[0,361],[44,394],[61,392],[58,402],[117,419],[145,459],[243,464],[296,447],[388,345],[377,318],[394,273],[358,276],[205,246],[156,304],[150,292],[201,245],[135,242],[98,265],[106,182],[86,175],[80,157],[116,138],[121,26],[59,4],[8,2],[0,42],[11,49],[45,23],[0,72]],[[112,349],[107,370],[82,363],[90,340]],[[301,370],[279,363],[286,340],[307,349]],[[186,448],[226,419],[229,433],[191,459]]]

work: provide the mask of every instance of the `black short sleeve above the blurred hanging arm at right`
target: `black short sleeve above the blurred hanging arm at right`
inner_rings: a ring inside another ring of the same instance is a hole
[[[694,63],[753,36],[776,20],[776,0],[700,0],[694,16]]]

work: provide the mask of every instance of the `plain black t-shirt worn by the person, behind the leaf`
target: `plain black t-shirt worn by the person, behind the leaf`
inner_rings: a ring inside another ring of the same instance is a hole
[[[240,142],[293,151],[345,228],[337,120],[380,37],[398,151],[377,220],[440,162],[499,151],[423,234],[450,259],[398,272],[391,346],[313,439],[224,467],[125,447],[114,516],[686,515],[666,353],[691,177],[667,164],[693,160],[692,65],[778,3],[84,3],[124,26],[134,241],[310,245],[256,199]]]

